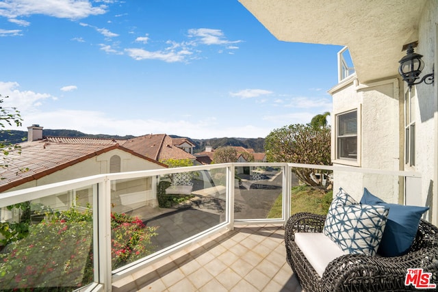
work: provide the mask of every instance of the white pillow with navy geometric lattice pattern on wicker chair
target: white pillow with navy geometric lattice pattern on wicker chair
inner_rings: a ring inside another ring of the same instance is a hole
[[[381,243],[388,209],[383,206],[350,204],[332,210],[324,234],[350,254],[374,256]]]

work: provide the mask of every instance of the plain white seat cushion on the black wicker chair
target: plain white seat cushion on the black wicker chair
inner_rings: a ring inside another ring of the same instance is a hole
[[[321,278],[331,261],[348,254],[324,233],[295,233],[295,243]]]

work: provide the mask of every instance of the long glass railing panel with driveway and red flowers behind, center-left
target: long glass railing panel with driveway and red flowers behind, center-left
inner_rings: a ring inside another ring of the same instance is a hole
[[[112,269],[225,222],[226,173],[218,168],[114,181]]]

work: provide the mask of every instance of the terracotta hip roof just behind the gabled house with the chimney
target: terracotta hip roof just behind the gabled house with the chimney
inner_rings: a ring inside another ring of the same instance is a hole
[[[193,155],[173,144],[172,137],[166,134],[149,134],[135,137],[127,140],[123,146],[158,161],[195,159]]]

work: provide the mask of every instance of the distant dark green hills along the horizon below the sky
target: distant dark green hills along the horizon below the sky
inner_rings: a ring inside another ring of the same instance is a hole
[[[107,139],[131,139],[133,135],[119,136],[119,135],[91,135],[82,133],[75,130],[51,130],[44,129],[44,136],[55,136],[55,137],[93,137],[93,138],[107,138]],[[181,137],[177,135],[170,135],[170,137]],[[264,152],[263,146],[265,140],[263,138],[212,138],[212,139],[191,139],[187,137],[196,145],[195,152],[202,152],[205,150],[205,146],[211,146],[214,149],[220,146],[242,146],[244,148],[253,148],[255,152]],[[10,142],[12,144],[21,143],[23,139],[27,139],[27,131],[3,131],[0,132],[0,140],[5,142]]]

